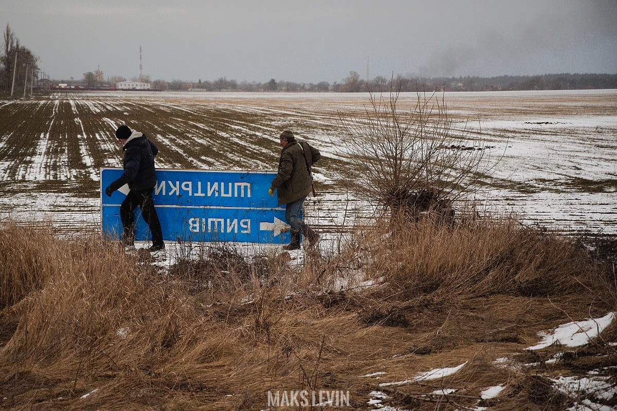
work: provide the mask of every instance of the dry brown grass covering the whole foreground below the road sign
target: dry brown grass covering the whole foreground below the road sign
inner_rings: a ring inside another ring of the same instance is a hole
[[[547,378],[615,364],[615,326],[554,368],[494,362],[531,362],[538,331],[617,309],[607,264],[516,219],[399,227],[358,232],[301,269],[223,246],[159,271],[96,235],[2,226],[0,409],[260,410],[268,390],[336,389],[356,409],[381,390],[402,409],[452,410],[504,384],[484,405],[552,410],[571,400]],[[533,355],[545,364],[558,349]],[[441,380],[379,386],[465,361]],[[386,374],[362,377],[374,372]],[[458,391],[428,395],[447,387]]]

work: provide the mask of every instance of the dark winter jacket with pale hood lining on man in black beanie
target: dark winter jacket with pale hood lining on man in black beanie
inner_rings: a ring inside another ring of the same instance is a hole
[[[124,173],[110,187],[117,190],[128,183],[131,190],[152,189],[156,184],[154,157],[159,153],[159,148],[147,139],[146,134],[133,131],[122,150]]]

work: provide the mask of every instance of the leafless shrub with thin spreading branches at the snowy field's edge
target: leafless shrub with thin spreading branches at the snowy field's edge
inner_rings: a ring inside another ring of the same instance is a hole
[[[451,218],[453,202],[484,171],[482,142],[453,127],[444,97],[417,92],[415,107],[402,112],[392,83],[387,97],[369,94],[362,115],[339,112],[347,185],[393,215],[437,210]]]

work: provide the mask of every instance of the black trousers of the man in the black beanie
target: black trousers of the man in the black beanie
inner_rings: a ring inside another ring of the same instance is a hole
[[[152,234],[152,245],[164,245],[163,232],[160,229],[159,214],[154,208],[152,191],[154,187],[146,190],[131,190],[120,205],[120,219],[122,220],[122,240],[125,244],[133,244],[135,238],[136,208],[141,208],[141,216],[147,222]]]

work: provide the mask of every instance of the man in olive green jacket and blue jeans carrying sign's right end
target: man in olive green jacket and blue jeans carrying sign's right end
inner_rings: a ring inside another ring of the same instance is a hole
[[[300,248],[300,232],[309,240],[309,246],[315,245],[319,235],[299,218],[304,200],[313,189],[311,167],[321,157],[320,152],[307,142],[298,142],[294,133],[285,130],[280,136],[281,158],[278,173],[270,184],[270,195],[278,196],[278,205],[285,206],[285,220],[291,226],[291,243],[284,250]]]

